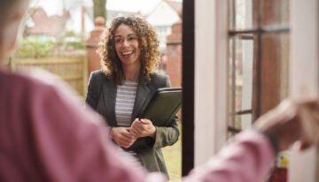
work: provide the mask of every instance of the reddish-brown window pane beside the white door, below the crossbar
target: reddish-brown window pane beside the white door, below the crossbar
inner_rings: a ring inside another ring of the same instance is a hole
[[[263,34],[261,44],[261,105],[264,105],[261,113],[264,113],[288,95],[289,34]]]

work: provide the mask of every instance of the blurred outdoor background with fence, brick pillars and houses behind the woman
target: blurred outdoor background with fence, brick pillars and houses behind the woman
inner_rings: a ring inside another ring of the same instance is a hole
[[[117,16],[143,16],[159,34],[159,72],[181,86],[181,0],[31,0],[19,49],[8,66],[40,66],[58,74],[82,96],[89,72],[100,69],[97,42]]]

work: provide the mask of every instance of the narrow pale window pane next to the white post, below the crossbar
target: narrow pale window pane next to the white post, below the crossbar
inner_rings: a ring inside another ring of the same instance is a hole
[[[230,39],[229,80],[229,126],[238,130],[250,128],[253,108],[252,34],[240,34]]]

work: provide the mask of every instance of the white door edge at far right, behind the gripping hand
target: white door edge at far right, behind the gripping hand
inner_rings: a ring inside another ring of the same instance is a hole
[[[290,95],[305,97],[319,93],[319,2],[291,1]],[[319,131],[318,131],[319,132]],[[291,182],[316,182],[318,155],[315,148],[292,152],[288,178]]]

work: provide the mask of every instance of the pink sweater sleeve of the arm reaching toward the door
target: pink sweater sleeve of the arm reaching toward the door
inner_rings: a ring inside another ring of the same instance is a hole
[[[183,181],[263,182],[273,167],[275,153],[261,133],[239,133],[207,163]]]

